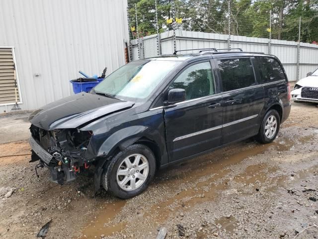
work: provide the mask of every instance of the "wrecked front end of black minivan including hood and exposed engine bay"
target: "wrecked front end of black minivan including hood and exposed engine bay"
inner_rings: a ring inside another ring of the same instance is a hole
[[[31,162],[39,160],[36,169],[48,168],[52,181],[61,185],[72,182],[88,170],[94,175],[98,171],[100,176],[102,162],[107,158],[103,154],[105,150],[100,152],[108,137],[105,120],[133,105],[132,102],[83,92],[34,111],[29,116]],[[91,126],[98,120],[101,126]],[[99,160],[101,157],[103,160]],[[100,165],[99,161],[102,161]],[[94,184],[98,190],[99,178]]]

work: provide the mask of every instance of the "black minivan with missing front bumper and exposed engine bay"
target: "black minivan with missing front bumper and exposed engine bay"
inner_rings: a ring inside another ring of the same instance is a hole
[[[91,171],[127,199],[156,170],[256,136],[273,141],[291,110],[290,87],[273,55],[202,50],[133,61],[88,93],[31,114],[31,162],[63,184]]]

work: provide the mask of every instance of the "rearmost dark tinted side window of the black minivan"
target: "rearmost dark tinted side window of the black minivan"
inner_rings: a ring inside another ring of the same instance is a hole
[[[270,57],[255,57],[263,83],[286,80],[284,71],[276,59]]]

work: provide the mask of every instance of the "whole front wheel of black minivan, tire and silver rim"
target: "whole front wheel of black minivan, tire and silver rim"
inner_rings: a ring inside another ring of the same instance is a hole
[[[155,172],[156,159],[152,150],[143,144],[133,144],[110,159],[101,181],[110,194],[128,199],[145,191]]]

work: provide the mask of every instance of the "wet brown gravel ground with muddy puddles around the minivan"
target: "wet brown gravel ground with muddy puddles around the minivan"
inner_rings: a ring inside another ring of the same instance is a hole
[[[0,144],[0,238],[35,238],[50,220],[49,239],[152,239],[161,227],[167,239],[315,238],[317,113],[295,103],[273,143],[248,139],[185,161],[130,200],[93,195],[87,176],[64,186],[46,169],[37,178],[25,140]]]

